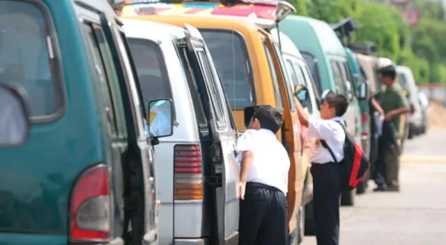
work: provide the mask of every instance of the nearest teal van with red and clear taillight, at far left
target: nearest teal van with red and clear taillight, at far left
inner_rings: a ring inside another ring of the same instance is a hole
[[[0,244],[157,244],[135,74],[107,1],[0,0]]]

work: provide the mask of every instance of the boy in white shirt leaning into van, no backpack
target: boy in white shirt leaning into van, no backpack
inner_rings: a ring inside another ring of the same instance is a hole
[[[282,113],[272,106],[255,109],[249,129],[238,139],[241,151],[239,244],[285,245],[290,159],[275,133]]]

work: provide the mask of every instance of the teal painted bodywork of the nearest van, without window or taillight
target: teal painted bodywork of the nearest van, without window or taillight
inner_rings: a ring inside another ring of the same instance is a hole
[[[82,23],[88,19],[100,26],[96,10],[114,23],[114,11],[107,1],[99,0],[17,2],[39,3],[48,12],[54,25],[49,28],[57,59],[54,69],[61,74],[53,80],[58,79],[63,88],[55,92],[61,92],[65,102],[57,118],[31,125],[24,145],[0,149],[0,244],[66,244],[72,187],[82,171],[99,163],[107,164],[111,173],[112,237],[118,237],[124,214],[122,186],[113,186],[122,178],[121,168],[115,168],[121,164],[116,149],[127,148],[128,140],[126,135],[112,139],[107,130],[110,125],[98,88],[98,70]]]

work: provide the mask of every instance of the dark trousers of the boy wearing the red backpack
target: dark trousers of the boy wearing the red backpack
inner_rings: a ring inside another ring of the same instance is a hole
[[[341,166],[337,163],[312,164],[313,207],[318,245],[339,244],[339,198]]]

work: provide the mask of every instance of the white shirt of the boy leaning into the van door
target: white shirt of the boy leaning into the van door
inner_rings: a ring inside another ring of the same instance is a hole
[[[243,151],[250,151],[253,161],[247,182],[258,182],[288,192],[288,171],[290,159],[282,143],[268,129],[248,129],[238,139],[238,161],[241,162]]]

